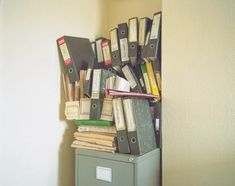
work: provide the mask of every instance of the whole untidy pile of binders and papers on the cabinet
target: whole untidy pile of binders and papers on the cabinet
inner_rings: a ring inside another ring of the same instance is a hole
[[[57,39],[65,116],[78,125],[71,146],[142,155],[160,146],[161,12],[109,33]]]

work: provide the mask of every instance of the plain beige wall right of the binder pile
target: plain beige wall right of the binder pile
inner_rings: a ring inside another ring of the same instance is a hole
[[[235,1],[163,0],[163,185],[235,185]]]

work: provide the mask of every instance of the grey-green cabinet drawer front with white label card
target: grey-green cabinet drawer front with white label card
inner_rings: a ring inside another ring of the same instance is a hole
[[[134,186],[134,164],[89,156],[76,159],[77,186]]]

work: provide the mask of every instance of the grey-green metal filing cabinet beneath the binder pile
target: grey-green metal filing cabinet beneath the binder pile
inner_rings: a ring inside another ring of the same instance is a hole
[[[76,149],[76,186],[160,186],[160,150],[142,156]]]

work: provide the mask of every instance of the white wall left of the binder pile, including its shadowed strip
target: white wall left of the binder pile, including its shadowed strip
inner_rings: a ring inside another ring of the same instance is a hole
[[[59,120],[56,39],[64,34],[94,39],[102,31],[102,4],[101,0],[2,2],[0,185],[74,185],[70,144],[75,127]]]

